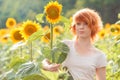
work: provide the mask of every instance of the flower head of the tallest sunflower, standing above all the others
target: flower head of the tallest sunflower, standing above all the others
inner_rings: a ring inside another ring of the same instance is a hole
[[[60,20],[60,14],[62,11],[62,5],[59,4],[57,1],[53,2],[49,2],[46,6],[45,6],[45,13],[46,13],[46,19],[50,22],[50,23],[56,23]]]

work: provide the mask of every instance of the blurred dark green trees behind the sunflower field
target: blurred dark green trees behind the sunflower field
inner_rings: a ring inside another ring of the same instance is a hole
[[[50,0],[0,0],[0,28],[6,27],[8,17],[17,22],[27,19],[34,20],[35,16],[44,11],[44,6]],[[81,8],[92,8],[100,13],[103,23],[115,23],[120,12],[120,0],[58,0],[63,5],[62,15],[71,17]]]

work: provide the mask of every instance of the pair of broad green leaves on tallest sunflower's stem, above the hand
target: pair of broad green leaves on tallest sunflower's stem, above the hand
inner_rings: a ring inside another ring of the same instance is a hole
[[[68,46],[62,42],[57,43],[52,50],[48,46],[42,48],[44,57],[53,63],[62,63],[67,57],[68,52]]]

